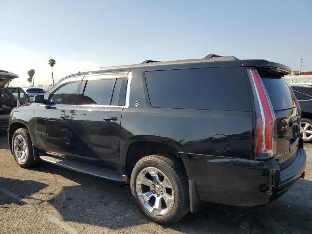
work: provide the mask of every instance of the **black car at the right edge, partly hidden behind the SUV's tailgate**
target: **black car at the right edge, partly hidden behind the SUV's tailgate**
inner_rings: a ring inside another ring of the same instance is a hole
[[[312,85],[292,85],[301,107],[300,133],[304,142],[312,142]]]

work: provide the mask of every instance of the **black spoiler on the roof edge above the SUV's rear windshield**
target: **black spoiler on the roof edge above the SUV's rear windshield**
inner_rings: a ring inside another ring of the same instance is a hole
[[[254,60],[241,60],[241,62],[244,67],[256,67],[272,72],[277,72],[281,75],[290,74],[292,71],[292,69],[288,66],[276,62],[269,62],[267,60],[254,59]]]

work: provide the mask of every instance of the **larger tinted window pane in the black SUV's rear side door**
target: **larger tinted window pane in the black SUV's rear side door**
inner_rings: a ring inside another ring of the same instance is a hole
[[[83,93],[82,104],[110,105],[115,80],[115,78],[88,80]]]

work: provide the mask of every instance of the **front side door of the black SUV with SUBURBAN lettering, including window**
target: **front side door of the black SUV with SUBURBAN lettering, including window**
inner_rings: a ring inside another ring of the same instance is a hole
[[[82,77],[61,82],[49,92],[46,104],[38,104],[34,116],[36,145],[48,154],[72,157],[71,118]]]

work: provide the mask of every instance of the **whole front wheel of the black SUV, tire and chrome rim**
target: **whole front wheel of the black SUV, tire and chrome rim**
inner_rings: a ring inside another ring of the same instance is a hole
[[[36,164],[31,139],[26,129],[19,128],[14,132],[11,146],[14,159],[21,167],[29,168]]]

